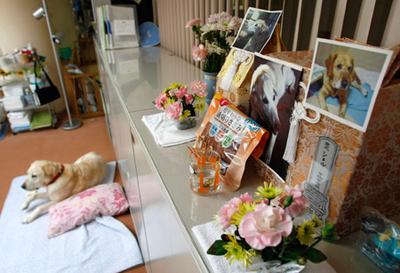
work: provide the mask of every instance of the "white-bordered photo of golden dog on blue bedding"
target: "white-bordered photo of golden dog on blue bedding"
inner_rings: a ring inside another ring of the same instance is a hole
[[[305,105],[365,132],[392,52],[316,39]]]

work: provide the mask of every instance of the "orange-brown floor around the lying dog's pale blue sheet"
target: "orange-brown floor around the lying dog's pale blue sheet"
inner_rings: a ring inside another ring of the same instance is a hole
[[[60,116],[61,121],[66,119]],[[36,159],[74,163],[76,158],[95,151],[107,162],[116,160],[108,138],[105,116],[83,119],[83,123],[82,127],[72,131],[62,130],[59,122],[55,130],[47,128],[15,135],[10,129],[6,132],[4,139],[0,141],[0,212],[12,179],[26,174],[29,165]],[[122,184],[118,171],[115,180]],[[122,221],[136,236],[129,212],[117,216],[116,219]],[[146,272],[146,268],[141,266],[126,272],[142,273]]]

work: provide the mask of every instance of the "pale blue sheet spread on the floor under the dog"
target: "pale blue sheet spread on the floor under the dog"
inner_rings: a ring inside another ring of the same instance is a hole
[[[111,164],[107,182],[114,181],[116,164]],[[27,192],[20,186],[26,178],[12,181],[0,215],[0,272],[120,272],[143,263],[136,238],[111,216],[100,216],[51,239],[47,238],[48,213],[22,224],[31,212],[20,210]],[[35,200],[29,208],[44,202]]]

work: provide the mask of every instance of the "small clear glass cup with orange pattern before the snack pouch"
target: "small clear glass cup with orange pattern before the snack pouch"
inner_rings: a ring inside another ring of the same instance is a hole
[[[220,155],[211,149],[190,154],[190,189],[196,194],[210,196],[220,189]]]

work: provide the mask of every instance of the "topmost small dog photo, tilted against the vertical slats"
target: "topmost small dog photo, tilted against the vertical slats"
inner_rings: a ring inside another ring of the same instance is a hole
[[[261,52],[268,43],[282,11],[269,12],[249,8],[232,47],[248,52]]]

